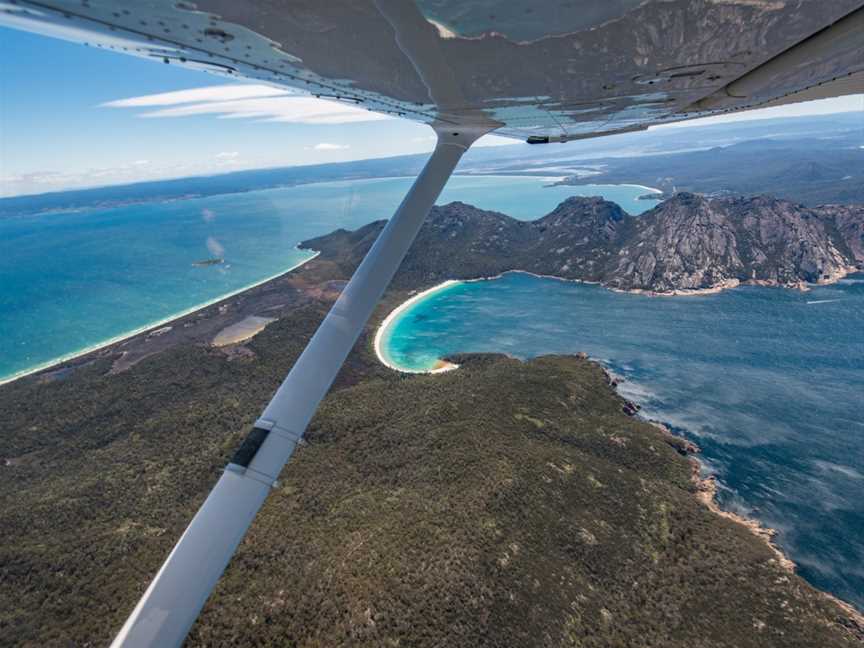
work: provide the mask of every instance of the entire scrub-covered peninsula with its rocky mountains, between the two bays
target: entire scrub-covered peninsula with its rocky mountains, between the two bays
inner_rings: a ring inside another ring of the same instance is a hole
[[[683,197],[645,223],[599,199],[531,222],[435,208],[188,645],[861,645],[861,615],[709,510],[692,448],[633,416],[598,363],[470,354],[404,376],[374,353],[385,316],[446,279],[522,269],[669,294],[825,282],[864,259],[842,234],[860,209],[775,201],[797,220],[769,227],[755,200]],[[673,244],[667,217],[706,227]],[[320,254],[301,268],[165,334],[0,386],[9,636],[110,639],[382,226],[307,241]],[[739,247],[754,231],[776,247]],[[784,256],[793,235],[807,254]]]

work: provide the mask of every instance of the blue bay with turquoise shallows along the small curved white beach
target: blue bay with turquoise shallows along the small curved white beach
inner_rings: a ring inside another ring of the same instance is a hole
[[[801,293],[647,297],[510,273],[391,322],[391,364],[585,351],[702,448],[724,507],[778,530],[799,572],[864,608],[864,275]]]

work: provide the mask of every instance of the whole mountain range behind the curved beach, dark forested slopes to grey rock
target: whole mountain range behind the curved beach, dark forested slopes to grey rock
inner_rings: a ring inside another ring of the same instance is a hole
[[[352,265],[383,221],[305,241]],[[454,202],[433,209],[397,285],[525,270],[621,290],[672,293],[740,283],[796,287],[864,267],[864,206],[677,194],[638,217],[573,197],[535,221]]]

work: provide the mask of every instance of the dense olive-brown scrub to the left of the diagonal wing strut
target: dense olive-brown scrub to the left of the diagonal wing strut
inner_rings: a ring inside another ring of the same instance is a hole
[[[0,387],[0,644],[106,644],[323,313],[272,324],[253,358],[180,346]],[[340,384],[382,371],[364,362]]]

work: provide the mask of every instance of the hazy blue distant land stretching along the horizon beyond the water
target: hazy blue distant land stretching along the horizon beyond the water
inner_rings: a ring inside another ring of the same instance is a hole
[[[414,176],[427,154],[152,180],[0,198],[0,217],[175,201],[312,182]],[[667,128],[566,146],[474,148],[466,174],[564,177],[564,184],[640,183],[678,191],[767,193],[807,205],[864,203],[861,113]],[[646,199],[649,199],[646,196]]]

